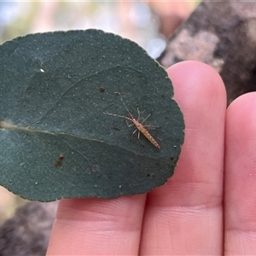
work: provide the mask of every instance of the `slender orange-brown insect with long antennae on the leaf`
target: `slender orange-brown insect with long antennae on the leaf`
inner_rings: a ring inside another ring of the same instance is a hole
[[[108,112],[104,112],[104,113],[109,114],[109,115],[113,115],[113,116],[117,116],[117,117],[119,117],[119,118],[123,118],[123,119],[126,119],[126,120],[130,120],[130,121],[132,122],[131,125],[135,125],[136,128],[137,128],[135,131],[133,131],[132,135],[133,135],[136,131],[138,131],[137,138],[139,139],[139,141],[141,141],[141,140],[140,140],[140,133],[143,133],[144,137],[146,137],[150,143],[152,143],[156,148],[160,148],[160,145],[156,142],[156,140],[154,139],[154,137],[153,137],[153,136],[148,132],[148,130],[145,128],[146,125],[143,125],[144,121],[145,121],[146,119],[148,119],[148,117],[151,115],[151,113],[149,113],[148,116],[147,116],[145,119],[143,119],[143,122],[140,123],[140,122],[139,122],[139,119],[140,119],[139,108],[137,107],[138,117],[137,117],[137,119],[135,119],[134,116],[133,116],[133,115],[131,114],[131,112],[129,111],[129,109],[126,107],[125,102],[123,101],[123,99],[122,99],[120,93],[119,93],[119,92],[115,92],[115,93],[118,93],[118,94],[119,94],[120,99],[121,99],[121,101],[123,102],[123,104],[124,104],[124,106],[125,106],[127,112],[129,113],[130,117],[127,117],[127,116],[124,116],[124,115],[115,114],[115,113],[108,113]],[[130,127],[131,125],[128,125],[128,126]]]

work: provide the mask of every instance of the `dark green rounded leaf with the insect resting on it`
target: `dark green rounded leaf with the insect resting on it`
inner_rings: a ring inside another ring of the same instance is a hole
[[[0,183],[37,201],[135,195],[166,183],[184,129],[172,96],[164,68],[111,33],[47,32],[6,42]],[[135,119],[138,106],[140,123],[151,113],[143,125],[160,148],[142,132],[132,136],[129,119],[106,114],[131,118],[125,106]]]

